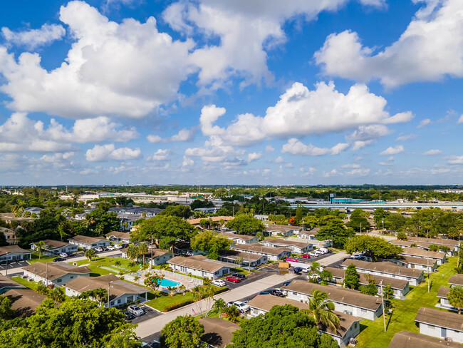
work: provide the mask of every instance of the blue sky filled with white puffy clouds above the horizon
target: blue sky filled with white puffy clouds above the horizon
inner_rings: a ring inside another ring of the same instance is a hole
[[[463,0],[4,0],[0,185],[453,184]]]

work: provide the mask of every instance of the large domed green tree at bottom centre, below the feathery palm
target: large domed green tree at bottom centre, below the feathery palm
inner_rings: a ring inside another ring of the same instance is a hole
[[[274,306],[269,312],[249,320],[241,320],[241,329],[233,332],[228,348],[321,348],[335,347],[333,338],[321,337],[313,318],[291,305]]]

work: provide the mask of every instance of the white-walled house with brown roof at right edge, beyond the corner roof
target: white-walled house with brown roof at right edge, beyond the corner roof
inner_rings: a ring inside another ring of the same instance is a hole
[[[420,334],[463,343],[462,314],[421,307],[415,322],[420,325]]]

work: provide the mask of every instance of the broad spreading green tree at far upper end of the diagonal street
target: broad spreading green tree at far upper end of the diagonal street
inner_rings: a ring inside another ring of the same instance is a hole
[[[380,260],[395,259],[402,253],[403,249],[398,245],[390,244],[381,237],[356,235],[345,243],[345,251],[349,254],[353,254],[354,252],[365,252],[372,257],[373,260]]]

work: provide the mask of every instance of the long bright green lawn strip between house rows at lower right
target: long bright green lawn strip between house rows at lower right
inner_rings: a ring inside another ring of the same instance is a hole
[[[384,348],[387,347],[396,332],[408,330],[419,332],[415,317],[420,307],[435,308],[438,298],[436,297],[440,287],[449,286],[449,277],[454,275],[454,267],[457,266],[457,257],[451,257],[449,262],[439,266],[439,272],[431,275],[431,291],[427,292],[427,279],[417,287],[414,287],[406,295],[406,300],[392,300],[394,310],[391,315],[386,314],[387,332],[384,332],[383,317],[374,322],[363,320],[360,322],[358,337],[358,348]],[[444,277],[442,277],[442,275]]]

